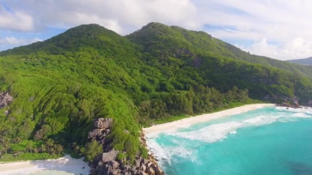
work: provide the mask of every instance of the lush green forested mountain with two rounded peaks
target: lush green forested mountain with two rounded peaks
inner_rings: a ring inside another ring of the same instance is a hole
[[[14,97],[0,108],[0,152],[37,148],[50,139],[66,148],[83,146],[93,120],[110,117],[109,144],[131,158],[143,151],[141,124],[212,112],[249,97],[281,102],[296,95],[302,104],[312,97],[311,67],[250,55],[205,32],[159,23],[127,36],[81,25],[0,52],[0,63],[0,92]]]

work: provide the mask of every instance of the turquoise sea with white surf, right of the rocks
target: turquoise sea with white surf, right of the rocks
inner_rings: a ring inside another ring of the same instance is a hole
[[[312,108],[265,107],[150,136],[166,174],[312,174]]]

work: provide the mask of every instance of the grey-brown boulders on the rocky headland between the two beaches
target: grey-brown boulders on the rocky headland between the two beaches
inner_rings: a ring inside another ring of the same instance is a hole
[[[88,133],[88,138],[96,140],[103,145],[103,153],[97,156],[90,164],[91,174],[141,174],[141,175],[162,175],[164,172],[158,166],[152,155],[148,159],[141,158],[139,155],[135,157],[135,164],[127,161],[127,158],[118,160],[118,150],[110,147],[112,140],[106,136],[110,133],[113,120],[111,118],[100,118],[94,121],[94,129]],[[146,146],[144,134],[141,134],[141,144]],[[125,154],[126,152],[122,152]]]

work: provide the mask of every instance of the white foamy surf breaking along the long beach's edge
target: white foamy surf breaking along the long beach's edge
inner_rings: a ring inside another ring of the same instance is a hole
[[[147,140],[147,145],[150,152],[152,152],[155,157],[159,159],[159,163],[161,165],[165,163],[170,164],[172,162],[179,161],[179,158],[186,158],[188,160],[196,162],[196,151],[198,149],[185,143],[213,143],[222,139],[226,139],[227,136],[230,134],[237,134],[238,129],[240,128],[267,125],[274,122],[293,122],[302,118],[312,117],[312,108],[290,109],[286,107],[276,107],[276,109],[279,110],[279,112],[268,112],[264,113],[263,115],[255,116],[253,118],[245,120],[211,124],[204,128],[191,130],[189,132],[179,132],[174,129],[167,129],[165,133],[163,133],[163,135],[169,136],[170,141],[175,146],[159,144],[155,139],[159,137],[158,134],[153,136],[148,134],[149,139]],[[192,140],[192,142],[185,142],[185,140],[181,139]]]

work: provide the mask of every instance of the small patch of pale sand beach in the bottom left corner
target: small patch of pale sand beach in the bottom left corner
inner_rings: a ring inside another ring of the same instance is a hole
[[[66,155],[59,159],[0,164],[0,174],[89,174],[88,163]]]

